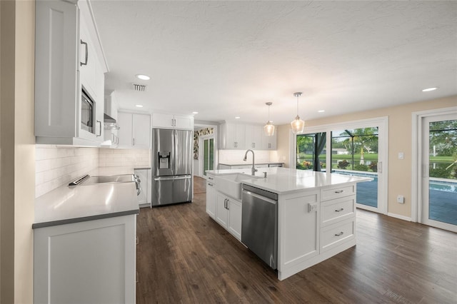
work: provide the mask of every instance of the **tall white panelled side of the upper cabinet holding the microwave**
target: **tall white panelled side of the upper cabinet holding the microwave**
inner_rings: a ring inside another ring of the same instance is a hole
[[[79,9],[36,1],[35,135],[73,138],[80,125]],[[40,141],[39,138],[37,141]]]

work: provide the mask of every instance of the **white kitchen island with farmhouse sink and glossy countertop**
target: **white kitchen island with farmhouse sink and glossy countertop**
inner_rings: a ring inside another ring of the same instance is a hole
[[[246,169],[206,173],[206,212],[243,243],[246,201],[241,186],[276,195],[273,268],[279,280],[356,245],[356,184],[371,178],[289,168],[259,168],[256,176]]]

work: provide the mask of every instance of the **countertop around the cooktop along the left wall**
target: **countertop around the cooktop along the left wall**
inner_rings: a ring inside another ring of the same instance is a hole
[[[117,169],[116,169],[117,168]],[[133,173],[133,168],[100,168],[91,176]],[[36,198],[32,228],[139,213],[134,182],[60,186]]]

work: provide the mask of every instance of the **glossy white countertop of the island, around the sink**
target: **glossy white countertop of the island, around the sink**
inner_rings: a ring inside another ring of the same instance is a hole
[[[266,178],[263,178],[266,172]],[[250,169],[212,170],[206,173],[214,176],[226,174],[244,173],[251,174]],[[309,188],[323,188],[338,186],[344,183],[359,183],[371,181],[373,178],[360,176],[347,176],[337,173],[315,172],[308,170],[296,170],[291,168],[258,168],[255,177],[246,176],[242,183],[271,191],[278,194],[302,191]]]

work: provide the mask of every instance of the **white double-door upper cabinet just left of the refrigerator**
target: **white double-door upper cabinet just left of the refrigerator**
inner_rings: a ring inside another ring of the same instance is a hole
[[[119,148],[145,148],[151,146],[151,116],[149,114],[119,112]]]

